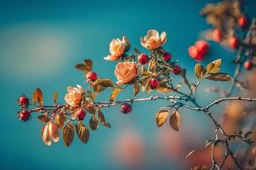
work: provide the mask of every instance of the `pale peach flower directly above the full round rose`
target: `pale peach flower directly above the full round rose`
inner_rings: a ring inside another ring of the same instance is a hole
[[[109,44],[110,54],[104,57],[106,60],[116,60],[119,59],[125,52],[125,44],[127,40],[123,37],[122,41],[119,38],[113,39]]]

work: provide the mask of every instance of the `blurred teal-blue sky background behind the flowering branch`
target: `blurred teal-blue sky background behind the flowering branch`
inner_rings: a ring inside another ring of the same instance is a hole
[[[91,132],[88,144],[84,145],[76,138],[70,148],[65,147],[62,140],[47,147],[40,138],[43,125],[35,116],[26,123],[16,118],[19,109],[16,99],[20,94],[32,95],[33,89],[40,87],[44,90],[45,103],[51,102],[55,90],[63,102],[67,86],[83,85],[83,75],[74,69],[74,65],[86,58],[95,61],[94,71],[100,77],[115,80],[115,63],[102,59],[109,53],[109,42],[114,37],[126,35],[132,47],[147,52],[140,46],[139,37],[150,28],[167,32],[164,47],[171,51],[180,65],[188,68],[189,79],[193,81],[195,60],[189,58],[187,48],[198,39],[200,31],[210,27],[199,11],[206,3],[216,2],[0,1],[0,168],[127,169],[114,154],[118,151],[115,142],[128,130],[143,140],[145,158],[142,169],[178,169],[183,160],[174,161],[172,156],[162,156],[158,151],[160,133],[167,129],[174,136],[182,136],[183,140],[189,139],[191,145],[200,147],[204,139],[212,136],[212,125],[207,117],[183,111],[182,131],[174,133],[168,126],[158,129],[155,125],[154,114],[166,103],[150,103],[150,108],[149,103],[136,104],[129,116],[121,115],[119,108],[110,108],[103,112],[112,128],[100,127]],[[245,9],[250,16],[255,5],[255,1],[247,1]],[[222,71],[231,73],[234,68],[230,60],[235,53],[215,42],[211,42],[211,51],[203,64],[222,57]],[[211,85],[204,82],[204,87]],[[104,92],[98,99],[108,99],[109,94]],[[119,99],[129,96],[131,91],[128,89],[120,94]],[[203,89],[198,94],[199,99],[204,98],[201,104],[217,97],[209,94],[206,98]]]

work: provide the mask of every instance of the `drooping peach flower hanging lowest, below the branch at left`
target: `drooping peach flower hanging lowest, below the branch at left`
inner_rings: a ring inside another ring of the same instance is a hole
[[[51,140],[58,142],[60,139],[58,126],[54,122],[48,122],[42,128],[42,139],[44,144],[51,145]]]

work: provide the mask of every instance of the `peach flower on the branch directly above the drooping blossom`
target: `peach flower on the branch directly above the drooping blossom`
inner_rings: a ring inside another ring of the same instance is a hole
[[[65,101],[68,105],[76,107],[79,105],[84,96],[84,89],[77,85],[77,88],[67,87],[67,94],[65,95]]]

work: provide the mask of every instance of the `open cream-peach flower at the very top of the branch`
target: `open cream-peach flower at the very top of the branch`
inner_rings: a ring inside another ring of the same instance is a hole
[[[158,31],[151,29],[148,30],[147,35],[145,37],[141,37],[140,40],[143,48],[154,50],[162,46],[164,43],[166,43],[167,35],[166,32],[163,31],[159,36]]]

